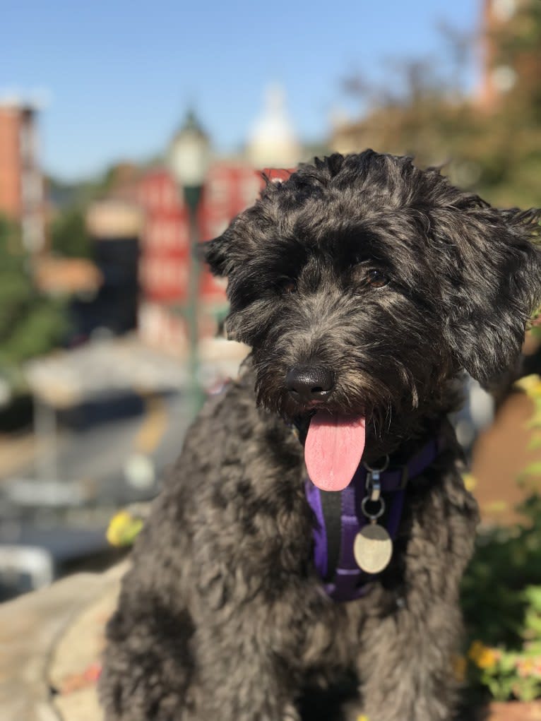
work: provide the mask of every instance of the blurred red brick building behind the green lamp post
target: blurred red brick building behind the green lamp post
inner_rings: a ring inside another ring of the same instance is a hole
[[[281,179],[289,171],[268,171]],[[199,208],[201,240],[219,235],[229,221],[251,205],[263,187],[263,175],[247,164],[221,161],[211,166]],[[190,268],[189,217],[170,172],[147,172],[138,189],[144,209],[141,236],[138,329],[151,345],[182,352],[187,343],[185,306]],[[199,334],[212,337],[226,312],[224,280],[201,267],[199,281]]]

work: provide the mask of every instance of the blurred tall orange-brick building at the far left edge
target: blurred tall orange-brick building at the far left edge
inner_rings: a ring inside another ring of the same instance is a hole
[[[45,244],[43,176],[36,111],[22,102],[0,102],[0,213],[20,224],[30,252]]]

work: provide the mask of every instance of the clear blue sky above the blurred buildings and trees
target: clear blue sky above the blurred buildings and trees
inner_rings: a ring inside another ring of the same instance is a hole
[[[167,145],[188,105],[219,152],[239,148],[265,85],[286,90],[299,137],[359,107],[340,81],[389,82],[397,58],[443,56],[445,19],[475,30],[480,0],[0,0],[0,97],[45,99],[45,168],[64,180]],[[470,68],[467,83],[472,84]]]

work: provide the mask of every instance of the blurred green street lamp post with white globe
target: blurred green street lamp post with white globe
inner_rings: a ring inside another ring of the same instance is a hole
[[[203,404],[203,389],[199,379],[198,354],[198,306],[199,306],[199,260],[198,260],[198,208],[203,184],[210,161],[210,143],[193,112],[188,112],[180,131],[172,140],[169,153],[170,169],[177,186],[182,188],[188,208],[190,229],[190,254],[188,265],[188,301],[185,316],[188,323],[190,413],[193,416]]]

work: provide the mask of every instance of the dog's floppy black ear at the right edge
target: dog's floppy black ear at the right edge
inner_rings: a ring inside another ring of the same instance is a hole
[[[470,208],[452,231],[445,335],[454,358],[480,381],[516,363],[528,319],[541,301],[541,211]],[[449,243],[449,225],[447,225]],[[449,246],[447,246],[449,247]]]

